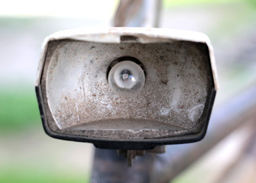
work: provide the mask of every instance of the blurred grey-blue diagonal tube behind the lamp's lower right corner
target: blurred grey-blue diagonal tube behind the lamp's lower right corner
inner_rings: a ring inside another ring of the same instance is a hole
[[[233,130],[256,115],[256,85],[212,111],[206,138],[199,143],[167,146],[157,156],[151,182],[169,182]]]

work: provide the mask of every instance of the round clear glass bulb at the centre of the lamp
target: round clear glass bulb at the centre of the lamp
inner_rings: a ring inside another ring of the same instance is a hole
[[[138,95],[144,86],[145,75],[137,63],[122,61],[109,71],[109,85],[115,94],[129,98]]]

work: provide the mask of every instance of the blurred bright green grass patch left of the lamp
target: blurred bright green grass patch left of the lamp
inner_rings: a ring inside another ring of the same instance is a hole
[[[40,121],[34,88],[0,88],[0,130],[20,130]]]

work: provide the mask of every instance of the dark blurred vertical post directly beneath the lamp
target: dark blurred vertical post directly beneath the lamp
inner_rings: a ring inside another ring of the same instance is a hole
[[[136,157],[131,167],[116,150],[96,148],[91,182],[149,182],[154,168],[151,154]]]

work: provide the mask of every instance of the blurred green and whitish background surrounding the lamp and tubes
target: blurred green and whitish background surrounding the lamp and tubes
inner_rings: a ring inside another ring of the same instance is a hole
[[[63,29],[109,27],[118,1],[0,2],[0,182],[89,182],[92,145],[44,133],[34,92],[37,63],[44,37]],[[159,25],[209,36],[220,82],[213,111],[256,85],[254,0],[164,0]],[[256,128],[245,124],[172,182],[256,182],[256,138],[248,137]],[[248,146],[254,149],[241,152]]]

